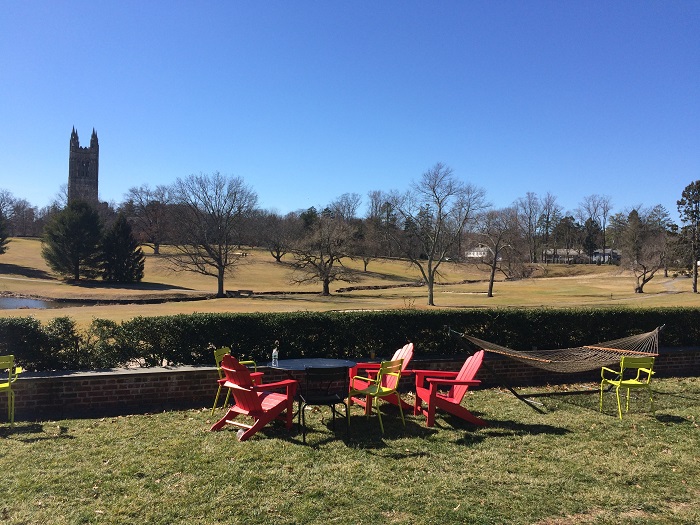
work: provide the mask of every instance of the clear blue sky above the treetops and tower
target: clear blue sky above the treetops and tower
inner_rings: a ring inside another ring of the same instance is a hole
[[[73,126],[100,198],[241,176],[263,208],[405,190],[676,201],[700,179],[700,2],[7,1],[0,188],[48,204]]]

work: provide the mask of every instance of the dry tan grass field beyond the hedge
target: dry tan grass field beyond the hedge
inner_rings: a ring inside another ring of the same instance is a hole
[[[209,299],[206,301],[159,304],[111,304],[75,306],[54,310],[5,310],[5,316],[33,315],[45,321],[67,315],[79,323],[95,317],[121,320],[137,315],[172,315],[192,312],[327,311],[390,308],[427,308],[423,288],[393,287],[355,290],[321,297],[320,285],[290,283],[290,267],[278,264],[263,250],[251,249],[243,264],[226,281],[229,290],[285,292],[280,295],[254,295],[249,298]],[[415,268],[400,260],[377,260],[362,271],[361,261],[349,261],[356,270],[357,283],[335,283],[332,290],[347,286],[398,286],[420,279]],[[472,265],[444,264],[442,283],[436,287],[435,303],[443,308],[480,307],[610,307],[610,306],[700,306],[700,296],[691,292],[688,278],[657,275],[644,294],[633,293],[633,277],[617,267],[596,265],[540,266],[542,278],[499,281],[495,296],[486,297],[486,274]],[[137,301],[142,298],[183,298],[211,295],[216,280],[189,272],[175,273],[165,259],[147,253],[144,282],[129,286],[75,285],[56,279],[41,258],[40,242],[13,239],[0,256],[0,292],[46,298]],[[465,282],[474,281],[474,282]],[[457,284],[462,283],[462,284]],[[300,294],[299,292],[306,292]]]

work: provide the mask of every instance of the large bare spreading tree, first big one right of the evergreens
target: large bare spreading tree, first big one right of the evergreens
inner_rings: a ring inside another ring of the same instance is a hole
[[[223,297],[224,278],[240,262],[243,224],[258,197],[242,178],[219,172],[178,178],[172,195],[177,241],[168,257],[177,269],[216,277],[216,295]]]

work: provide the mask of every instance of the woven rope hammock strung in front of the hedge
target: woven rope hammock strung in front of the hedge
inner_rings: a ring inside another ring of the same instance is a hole
[[[519,351],[489,343],[467,334],[462,334],[462,337],[487,352],[505,355],[530,366],[551,372],[574,373],[614,365],[620,362],[620,357],[623,355],[659,355],[659,331],[661,328],[663,327],[660,326],[645,334],[623,337],[614,341],[556,350]]]

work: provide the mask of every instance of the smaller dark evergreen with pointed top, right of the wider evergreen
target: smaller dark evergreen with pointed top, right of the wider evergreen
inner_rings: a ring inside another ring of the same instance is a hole
[[[102,241],[102,278],[120,283],[143,279],[144,256],[129,221],[120,213]]]

